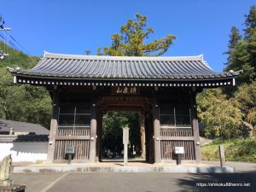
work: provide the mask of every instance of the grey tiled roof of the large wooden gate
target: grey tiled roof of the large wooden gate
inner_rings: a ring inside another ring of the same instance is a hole
[[[17,75],[55,79],[226,79],[239,73],[217,73],[202,55],[177,57],[124,57],[44,53],[30,70]]]

